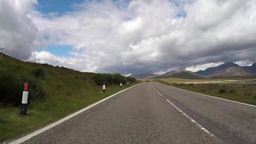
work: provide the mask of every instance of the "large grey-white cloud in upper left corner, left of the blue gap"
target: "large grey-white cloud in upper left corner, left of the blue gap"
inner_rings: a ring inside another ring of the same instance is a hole
[[[40,31],[31,21],[35,0],[0,1],[0,47],[16,58],[29,58],[31,52],[43,46]]]

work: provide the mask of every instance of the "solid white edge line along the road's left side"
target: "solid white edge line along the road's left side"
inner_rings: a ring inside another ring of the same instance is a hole
[[[137,86],[137,85],[138,85],[138,84],[135,84],[134,86]],[[130,88],[133,88],[134,86],[131,86],[131,87],[129,87],[129,88],[126,88],[125,90],[128,90],[128,89],[130,89]],[[122,90],[122,91],[117,92],[117,93],[115,93],[115,94],[113,94],[113,95],[110,95],[109,97],[106,97],[105,99],[102,99],[102,100],[100,100],[99,102],[95,102],[94,104],[92,104],[92,105],[90,105],[90,106],[88,106],[88,107],[86,107],[86,108],[83,108],[83,109],[77,111],[76,113],[72,113],[71,115],[68,115],[68,116],[66,116],[65,118],[62,118],[61,120],[58,120],[57,122],[54,122],[54,123],[52,123],[52,124],[50,124],[50,125],[47,125],[46,127],[43,127],[42,129],[39,129],[39,130],[37,130],[37,131],[35,131],[35,132],[32,132],[31,134],[28,134],[28,135],[26,135],[26,136],[24,136],[24,137],[22,137],[22,138],[19,138],[18,140],[12,141],[10,144],[23,143],[24,141],[29,140],[30,138],[33,138],[34,136],[36,136],[36,135],[38,135],[38,134],[40,134],[40,133],[42,133],[42,132],[45,132],[45,131],[47,131],[48,129],[51,129],[52,127],[55,127],[56,125],[61,124],[62,122],[65,122],[66,120],[68,120],[68,119],[70,119],[70,118],[72,118],[72,117],[78,115],[79,113],[82,113],[83,111],[86,111],[87,109],[90,109],[90,108],[92,108],[93,106],[96,106],[97,104],[100,104],[100,102],[103,102],[103,101],[105,101],[105,100],[107,100],[107,99],[110,99],[111,97],[114,97],[115,95],[118,95],[119,93],[124,92],[125,90]]]

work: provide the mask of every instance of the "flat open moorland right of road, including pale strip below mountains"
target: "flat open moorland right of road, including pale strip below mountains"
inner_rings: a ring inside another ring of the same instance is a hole
[[[154,79],[185,90],[256,105],[256,79]]]

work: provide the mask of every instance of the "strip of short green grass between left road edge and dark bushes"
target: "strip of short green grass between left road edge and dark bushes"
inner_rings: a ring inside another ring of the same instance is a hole
[[[31,102],[27,116],[20,115],[20,108],[0,107],[0,142],[24,136],[137,83],[122,88],[111,85],[106,88],[106,93],[102,93],[102,86],[95,85],[67,94],[60,92],[60,95]]]

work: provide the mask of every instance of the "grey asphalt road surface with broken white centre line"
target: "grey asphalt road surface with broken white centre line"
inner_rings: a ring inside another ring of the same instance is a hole
[[[141,83],[24,143],[256,143],[256,108]]]

